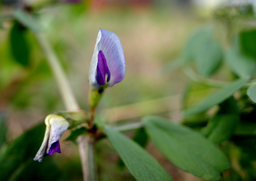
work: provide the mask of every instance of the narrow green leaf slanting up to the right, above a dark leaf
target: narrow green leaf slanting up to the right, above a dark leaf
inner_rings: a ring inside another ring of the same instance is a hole
[[[227,98],[233,95],[243,84],[248,82],[248,80],[249,78],[241,78],[227,84],[225,87],[220,88],[215,93],[206,97],[203,101],[199,102],[197,105],[191,108],[185,109],[184,116],[190,117],[193,114],[201,113],[203,111],[210,109],[212,106],[225,101]]]

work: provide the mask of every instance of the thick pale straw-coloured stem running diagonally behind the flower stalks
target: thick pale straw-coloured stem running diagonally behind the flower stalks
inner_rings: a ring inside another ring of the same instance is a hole
[[[50,46],[47,38],[42,33],[36,33],[35,36],[44,51],[47,61],[52,69],[53,75],[56,79],[61,98],[63,99],[65,108],[67,110],[79,110],[79,105],[75,99],[75,96],[72,92],[71,87],[69,86],[68,79],[63,71],[63,68],[60,65],[60,61],[56,54],[54,53],[52,47]],[[94,162],[94,152],[93,152],[93,144],[91,141],[92,138],[89,135],[82,135],[78,138],[78,148],[82,162],[82,170],[83,170],[83,180],[84,181],[96,181],[96,171],[91,171],[91,167],[93,170],[96,170],[95,162]]]

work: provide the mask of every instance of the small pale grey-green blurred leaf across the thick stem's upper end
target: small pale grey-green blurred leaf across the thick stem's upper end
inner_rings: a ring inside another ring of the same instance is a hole
[[[28,12],[16,8],[14,10],[14,18],[18,20],[20,23],[22,23],[24,26],[26,26],[28,29],[34,32],[40,31],[40,26],[37,23],[37,20]]]

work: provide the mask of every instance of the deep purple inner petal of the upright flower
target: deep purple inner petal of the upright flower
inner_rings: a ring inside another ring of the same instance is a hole
[[[96,82],[100,85],[105,85],[105,76],[108,74],[107,82],[110,79],[110,71],[104,53],[100,50],[98,53],[98,65],[96,73]]]

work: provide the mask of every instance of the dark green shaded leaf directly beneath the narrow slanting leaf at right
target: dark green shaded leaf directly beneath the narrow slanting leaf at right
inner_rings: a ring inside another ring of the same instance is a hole
[[[201,133],[214,143],[230,138],[239,122],[237,103],[230,97],[220,105],[219,112],[212,117]]]

